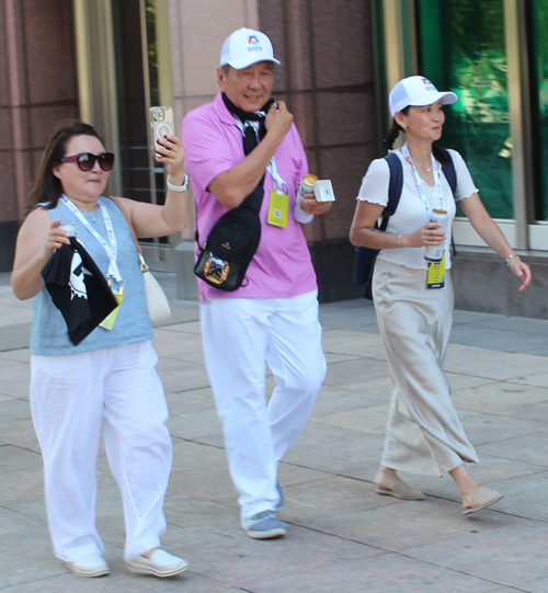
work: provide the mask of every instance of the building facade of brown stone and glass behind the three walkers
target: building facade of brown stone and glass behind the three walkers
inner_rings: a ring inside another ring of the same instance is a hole
[[[334,207],[305,228],[322,301],[359,296],[355,196],[383,153],[388,90],[422,73],[458,94],[441,144],[463,153],[488,210],[534,263],[524,298],[459,216],[457,306],[548,318],[548,0],[0,0],[0,14],[1,270],[56,122],[81,117],[103,135],[117,156],[111,193],[161,203],[148,109],[173,105],[181,125],[210,101],[222,41],[249,26],[273,41],[274,96],[295,115],[310,171],[333,181]],[[187,298],[192,235],[145,242]]]

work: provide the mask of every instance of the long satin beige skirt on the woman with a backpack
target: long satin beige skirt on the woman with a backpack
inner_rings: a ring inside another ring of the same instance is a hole
[[[478,463],[442,370],[453,323],[450,271],[444,288],[429,290],[425,270],[377,260],[373,294],[396,386],[380,463],[424,476]]]

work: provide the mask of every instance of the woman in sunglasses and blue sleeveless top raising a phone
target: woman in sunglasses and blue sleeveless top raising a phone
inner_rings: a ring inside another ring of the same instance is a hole
[[[179,138],[158,140],[168,166],[164,206],[118,198],[137,237],[161,237],[189,223],[187,178]],[[171,470],[168,409],[142,272],[128,223],[103,197],[114,155],[90,125],[61,125],[44,152],[31,192],[34,206],[19,232],[11,282],[20,299],[34,297],[31,410],[42,448],[49,532],[55,555],[78,575],[110,572],[95,528],[95,466],[101,429],[124,504],[124,557],[133,572],[171,577],[189,565],[160,548],[163,498]],[[44,287],[42,269],[69,243],[72,224],[85,250],[123,294],[112,329],[95,328],[78,345]],[[123,290],[122,290],[123,287]]]

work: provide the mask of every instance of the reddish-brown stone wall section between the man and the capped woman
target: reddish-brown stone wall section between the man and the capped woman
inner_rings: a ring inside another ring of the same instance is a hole
[[[260,27],[282,66],[274,96],[287,102],[310,172],[331,179],[333,208],[305,227],[320,301],[358,296],[349,231],[355,197],[378,156],[375,57],[369,1],[259,0]]]

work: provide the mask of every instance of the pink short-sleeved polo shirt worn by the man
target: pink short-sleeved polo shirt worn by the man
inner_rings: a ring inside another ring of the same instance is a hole
[[[242,133],[218,93],[213,103],[186,115],[181,137],[186,151],[185,167],[196,197],[197,227],[203,244],[214,224],[228,212],[207,189],[217,175],[246,158]],[[295,125],[274,158],[289,192],[287,227],[266,223],[273,187],[272,175],[266,171],[260,213],[261,242],[246,274],[249,284],[227,293],[197,278],[201,303],[208,298],[288,298],[317,289],[310,251],[300,224],[293,217],[300,180],[308,173],[305,149]]]

